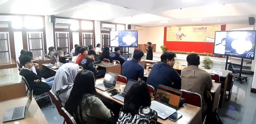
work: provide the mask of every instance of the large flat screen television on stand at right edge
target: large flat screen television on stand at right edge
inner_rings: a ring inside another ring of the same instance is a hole
[[[216,31],[214,54],[254,60],[256,31]]]

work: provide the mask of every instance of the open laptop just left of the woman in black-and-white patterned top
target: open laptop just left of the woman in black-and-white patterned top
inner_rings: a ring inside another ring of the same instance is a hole
[[[124,88],[124,92],[119,93],[119,94],[117,94],[117,95],[114,95],[113,98],[124,102],[124,97],[125,97],[125,95],[128,93],[129,89],[132,87],[132,85],[133,85],[135,82],[136,82],[135,80],[128,79],[128,81],[127,81],[127,83],[126,83],[126,86],[125,86],[125,88]]]

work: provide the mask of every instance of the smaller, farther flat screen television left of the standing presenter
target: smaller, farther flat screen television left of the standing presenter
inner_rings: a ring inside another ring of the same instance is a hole
[[[110,31],[111,47],[138,47],[138,31]]]

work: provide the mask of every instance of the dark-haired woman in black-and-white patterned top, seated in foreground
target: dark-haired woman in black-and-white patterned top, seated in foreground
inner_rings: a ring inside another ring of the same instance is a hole
[[[150,105],[148,85],[137,81],[124,97],[124,106],[116,124],[156,124],[157,112]]]

